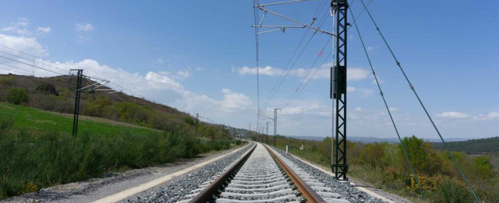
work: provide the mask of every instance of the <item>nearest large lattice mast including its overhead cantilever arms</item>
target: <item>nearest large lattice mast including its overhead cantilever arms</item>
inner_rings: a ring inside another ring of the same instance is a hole
[[[347,157],[346,157],[346,136],[347,136],[347,125],[346,125],[346,116],[347,116],[347,82],[346,82],[346,76],[347,76],[347,26],[350,25],[347,23],[347,9],[348,9],[348,2],[346,0],[332,0],[330,4],[330,9],[331,9],[331,15],[334,16],[334,26],[336,29],[333,32],[326,31],[324,29],[321,29],[319,27],[312,26],[313,22],[315,21],[315,18],[312,20],[312,23],[307,24],[300,22],[298,20],[292,19],[290,17],[278,14],[276,12],[270,11],[266,9],[265,7],[267,6],[274,6],[274,5],[281,5],[281,4],[288,4],[288,3],[296,3],[296,2],[303,2],[306,0],[294,0],[294,1],[288,1],[288,2],[278,2],[278,3],[271,3],[271,4],[257,4],[254,5],[254,7],[260,9],[261,11],[264,12],[262,19],[260,21],[260,24],[252,25],[252,27],[259,27],[259,28],[278,28],[278,29],[272,29],[272,30],[267,30],[267,31],[262,31],[262,32],[257,32],[256,35],[259,35],[261,33],[267,33],[271,31],[285,31],[286,28],[310,28],[315,30],[316,32],[321,32],[325,33],[326,35],[334,36],[335,41],[334,41],[334,47],[333,50],[335,51],[336,58],[334,58],[334,66],[331,67],[331,74],[330,74],[330,91],[329,91],[329,97],[333,99],[333,104],[336,106],[336,108],[333,108],[333,117],[336,117],[336,120],[334,119],[333,125],[333,133],[332,136],[333,138],[336,139],[336,144],[334,146],[335,148],[335,156],[331,160],[331,170],[332,172],[335,173],[335,178],[338,180],[342,181],[348,181],[348,178],[346,176],[348,172],[348,164],[347,164]],[[293,26],[293,25],[263,25],[264,19],[266,14],[272,14],[274,16],[284,18],[286,20],[289,20],[291,22],[294,22],[298,24],[298,26]],[[274,120],[274,123],[276,121]],[[275,134],[275,133],[274,133]],[[275,137],[274,137],[275,139]],[[275,143],[275,141],[274,141]]]

